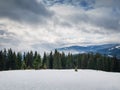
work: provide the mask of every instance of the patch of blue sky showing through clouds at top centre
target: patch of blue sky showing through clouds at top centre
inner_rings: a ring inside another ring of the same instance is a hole
[[[90,10],[94,8],[95,0],[43,0],[43,3],[47,6],[65,4]]]

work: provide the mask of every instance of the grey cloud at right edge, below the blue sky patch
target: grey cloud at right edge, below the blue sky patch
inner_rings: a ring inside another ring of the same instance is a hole
[[[101,12],[98,13],[101,14]],[[104,12],[102,13],[104,14]],[[101,29],[104,28],[107,31],[120,32],[120,16],[116,17],[114,15],[110,15],[110,13],[108,13],[107,16],[103,15],[100,17],[97,15],[91,16],[90,14],[74,14],[72,16],[68,16],[68,20],[70,20],[70,22],[72,22],[73,24],[91,24]]]

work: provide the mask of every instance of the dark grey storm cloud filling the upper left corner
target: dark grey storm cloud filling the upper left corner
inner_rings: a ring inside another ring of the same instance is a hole
[[[53,12],[36,0],[0,0],[0,18],[27,23],[45,22]]]

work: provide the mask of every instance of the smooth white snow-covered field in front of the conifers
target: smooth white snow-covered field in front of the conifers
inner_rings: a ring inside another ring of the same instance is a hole
[[[120,90],[120,73],[94,70],[1,71],[0,90]]]

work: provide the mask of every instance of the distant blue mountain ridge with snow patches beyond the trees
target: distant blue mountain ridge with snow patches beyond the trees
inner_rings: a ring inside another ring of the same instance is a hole
[[[120,58],[120,44],[103,44],[103,45],[91,45],[91,46],[69,46],[57,49],[60,52],[65,53],[100,53],[110,57],[116,56]]]

